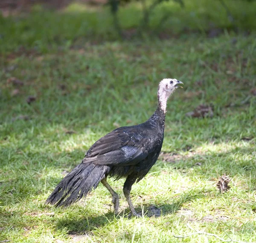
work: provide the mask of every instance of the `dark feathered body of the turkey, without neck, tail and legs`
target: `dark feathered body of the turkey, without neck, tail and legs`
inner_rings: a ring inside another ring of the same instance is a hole
[[[84,161],[96,153],[94,164],[108,165],[110,176],[119,179],[132,175],[139,181],[156,163],[160,154],[164,122],[163,111],[157,110],[145,123],[115,129],[93,144]],[[99,150],[99,147],[102,149]]]

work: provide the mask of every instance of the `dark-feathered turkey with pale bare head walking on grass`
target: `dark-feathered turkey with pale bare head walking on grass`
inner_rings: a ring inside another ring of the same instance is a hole
[[[123,192],[131,213],[140,217],[131,202],[131,186],[136,180],[140,181],[157,161],[163,144],[167,100],[177,88],[182,88],[177,86],[180,83],[176,79],[163,79],[158,86],[158,106],[154,114],[140,125],[120,127],[96,141],[81,164],[56,186],[46,203],[69,206],[101,182],[111,193],[117,214],[119,197],[108,184],[107,177],[125,177]]]

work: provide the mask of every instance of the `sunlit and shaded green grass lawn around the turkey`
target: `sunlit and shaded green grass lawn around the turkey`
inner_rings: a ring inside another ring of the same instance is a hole
[[[209,22],[191,22],[200,33],[184,34],[189,1],[187,9],[170,3],[181,20],[179,36],[166,40],[115,40],[104,8],[0,17],[0,241],[221,242],[204,234],[174,237],[199,230],[256,242],[256,33],[252,7],[239,3],[247,17],[236,21],[249,35],[228,31],[225,12],[214,16],[214,6],[196,14]],[[126,18],[136,4],[121,11],[125,29],[133,26]],[[226,31],[208,38],[212,21]],[[117,217],[102,185],[69,208],[45,206],[97,139],[148,119],[164,77],[183,81],[184,89],[169,99],[164,154],[132,187],[143,217],[127,217],[124,180],[113,178],[121,198]],[[186,116],[200,104],[212,104],[213,117]],[[230,190],[221,194],[216,184],[224,173]]]

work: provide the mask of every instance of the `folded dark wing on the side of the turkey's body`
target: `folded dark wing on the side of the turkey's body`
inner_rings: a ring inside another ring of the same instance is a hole
[[[157,141],[146,131],[118,129],[100,138],[88,150],[85,161],[94,165],[135,165],[144,160],[154,150]]]

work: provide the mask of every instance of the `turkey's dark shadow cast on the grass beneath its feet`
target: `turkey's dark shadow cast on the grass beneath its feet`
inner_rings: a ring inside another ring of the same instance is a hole
[[[201,191],[192,191],[184,193],[180,197],[174,199],[173,203],[160,203],[160,204],[145,204],[142,207],[137,206],[136,212],[143,214],[143,217],[161,217],[168,214],[175,214],[182,205],[198,197],[206,197]],[[69,234],[90,234],[90,231],[105,226],[120,218],[131,218],[130,209],[126,208],[119,212],[116,216],[113,212],[108,212],[96,217],[82,217],[79,219],[62,218],[58,220],[56,227],[58,229],[65,229]]]

